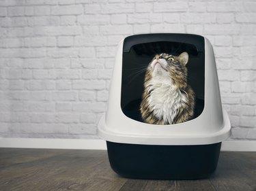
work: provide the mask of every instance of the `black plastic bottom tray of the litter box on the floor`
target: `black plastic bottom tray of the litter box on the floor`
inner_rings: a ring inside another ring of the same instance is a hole
[[[139,145],[106,141],[111,168],[138,179],[203,179],[216,169],[221,142],[210,145]]]

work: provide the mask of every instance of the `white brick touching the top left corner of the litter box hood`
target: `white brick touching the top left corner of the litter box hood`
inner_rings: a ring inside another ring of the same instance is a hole
[[[128,17],[129,20],[129,17]],[[104,35],[130,35],[132,33],[131,25],[106,25],[100,26],[100,33]]]

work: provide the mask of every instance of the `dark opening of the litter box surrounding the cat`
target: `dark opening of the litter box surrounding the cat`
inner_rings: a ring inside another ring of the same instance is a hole
[[[204,107],[205,52],[204,39],[199,35],[147,34],[124,39],[122,60],[121,108],[128,118],[142,122],[139,107],[143,94],[145,69],[156,54],[174,56],[188,52],[188,84],[196,94],[195,116]]]

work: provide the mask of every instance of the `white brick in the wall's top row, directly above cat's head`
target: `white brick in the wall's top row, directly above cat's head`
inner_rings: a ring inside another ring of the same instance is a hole
[[[154,3],[154,12],[186,12],[188,4],[186,2],[163,2]]]

